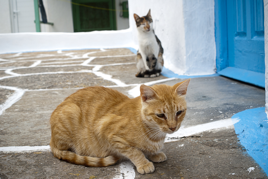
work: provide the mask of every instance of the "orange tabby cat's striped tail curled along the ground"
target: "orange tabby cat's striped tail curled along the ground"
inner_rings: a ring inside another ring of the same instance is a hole
[[[52,153],[58,159],[67,161],[71,164],[84,165],[87,167],[107,167],[117,162],[119,157],[107,156],[105,158],[96,158],[89,156],[80,156],[74,152],[68,150],[59,150],[55,147],[51,147]]]

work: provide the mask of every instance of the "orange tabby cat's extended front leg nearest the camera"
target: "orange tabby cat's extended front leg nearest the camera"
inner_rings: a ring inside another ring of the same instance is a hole
[[[153,163],[144,156],[144,153],[141,150],[119,142],[117,143],[116,148],[119,153],[130,159],[140,174],[152,173],[155,171]]]

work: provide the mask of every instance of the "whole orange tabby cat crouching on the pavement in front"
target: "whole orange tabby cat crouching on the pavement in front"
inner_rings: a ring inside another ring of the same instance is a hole
[[[51,115],[52,153],[89,167],[130,159],[139,173],[152,173],[150,161],[166,160],[161,152],[165,136],[177,131],[185,116],[190,80],[141,85],[141,96],[134,99],[105,87],[78,90]]]

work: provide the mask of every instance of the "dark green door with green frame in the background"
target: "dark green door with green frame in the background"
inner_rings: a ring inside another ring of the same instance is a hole
[[[72,2],[74,32],[116,30],[114,0],[72,0]]]

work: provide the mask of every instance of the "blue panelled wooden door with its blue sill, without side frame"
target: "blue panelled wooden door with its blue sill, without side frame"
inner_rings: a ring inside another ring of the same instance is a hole
[[[227,0],[227,67],[218,73],[265,87],[264,2]]]

